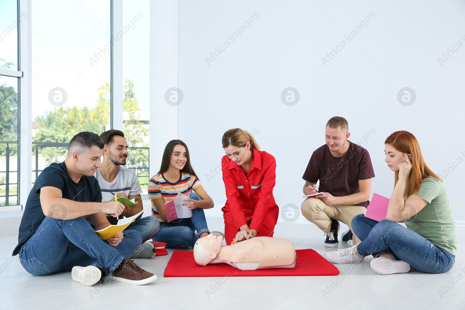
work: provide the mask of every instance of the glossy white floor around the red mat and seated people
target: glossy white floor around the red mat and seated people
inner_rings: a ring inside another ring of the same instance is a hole
[[[207,221],[211,230],[222,230],[221,218]],[[275,237],[291,240],[296,249],[311,248],[326,257],[323,233],[316,226],[278,223],[275,231]],[[338,276],[163,277],[173,252],[168,250],[167,256],[137,260],[158,276],[152,284],[91,287],[74,282],[70,272],[28,274],[18,257],[10,256],[17,240],[17,233],[0,236],[0,310],[465,309],[465,238],[459,238],[455,266],[443,274],[383,276],[371,269],[370,258],[361,265],[336,265]],[[339,243],[339,248],[347,246]]]

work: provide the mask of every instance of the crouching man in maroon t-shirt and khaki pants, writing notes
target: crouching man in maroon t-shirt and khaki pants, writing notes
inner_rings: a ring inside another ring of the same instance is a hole
[[[338,221],[348,225],[352,231],[352,218],[366,211],[375,176],[370,154],[362,146],[347,140],[350,136],[348,131],[346,119],[339,116],[331,118],[326,124],[326,145],[313,152],[302,177],[306,180],[305,195],[324,192],[317,198],[306,198],[301,210],[306,219],[326,233],[326,247],[339,244]],[[360,242],[355,235],[352,240],[353,244]]]

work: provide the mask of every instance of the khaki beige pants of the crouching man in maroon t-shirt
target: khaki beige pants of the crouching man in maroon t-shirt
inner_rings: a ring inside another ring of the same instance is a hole
[[[350,204],[326,205],[321,199],[311,197],[304,200],[301,210],[302,215],[323,232],[331,230],[331,219],[335,219],[349,226],[353,233],[352,242],[354,245],[361,242],[352,230],[352,218],[357,214],[365,213],[365,207]],[[338,239],[341,238],[342,235],[339,235]]]

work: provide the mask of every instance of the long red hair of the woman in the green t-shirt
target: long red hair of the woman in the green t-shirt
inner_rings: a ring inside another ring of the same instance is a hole
[[[405,130],[392,133],[384,141],[385,144],[392,145],[397,151],[410,154],[410,161],[412,162],[412,171],[407,179],[407,187],[405,188],[405,195],[407,197],[418,194],[421,182],[424,178],[434,177],[441,181],[433,171],[425,163],[421,155],[420,145],[417,138],[412,133]],[[399,171],[395,172],[394,186],[399,181]]]

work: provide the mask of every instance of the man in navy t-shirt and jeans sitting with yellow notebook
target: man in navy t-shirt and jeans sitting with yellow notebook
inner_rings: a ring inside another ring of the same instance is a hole
[[[113,280],[130,284],[146,284],[157,278],[129,259],[142,241],[138,231],[102,240],[84,218],[90,215],[95,229],[100,230],[110,225],[106,213],[117,217],[124,210],[118,201],[101,202],[100,186],[93,174],[100,167],[102,149],[98,135],[80,132],[71,139],[65,161],[46,167],[36,179],[13,251],[30,274],[72,270],[73,280],[87,286],[110,272]]]

